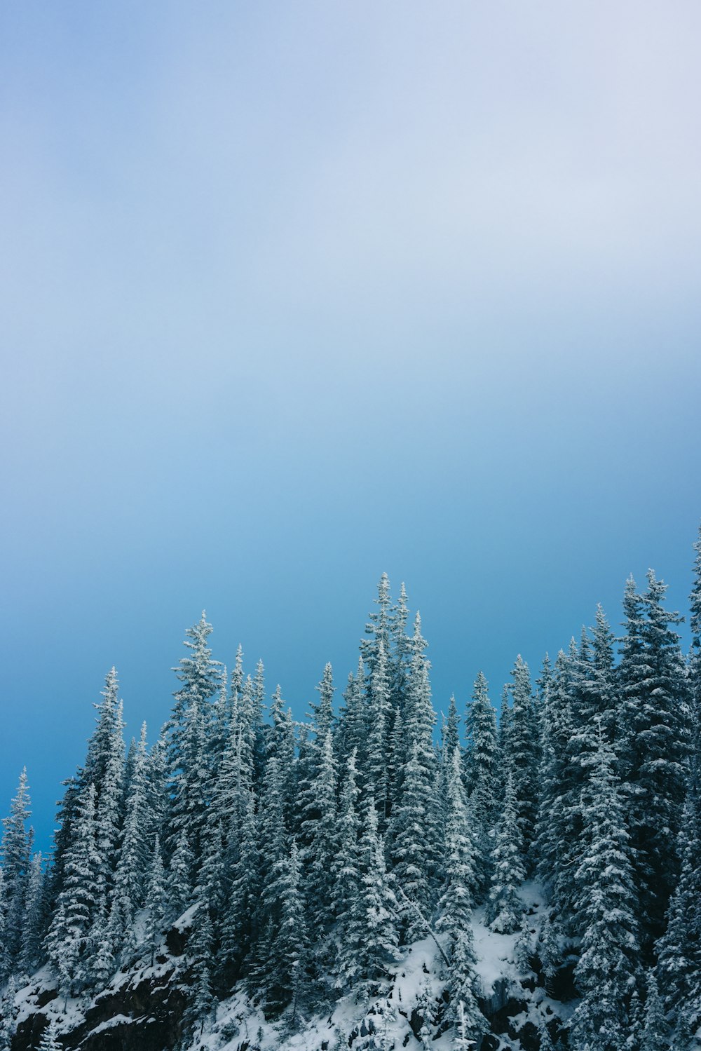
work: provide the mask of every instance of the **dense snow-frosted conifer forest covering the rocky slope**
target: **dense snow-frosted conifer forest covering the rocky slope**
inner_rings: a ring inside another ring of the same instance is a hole
[[[3,822],[0,1048],[701,1047],[695,547],[688,654],[651,571],[620,638],[599,607],[518,656],[498,719],[479,674],[438,720],[386,576],[304,721],[261,662],[214,659],[204,614],[151,744],[125,745],[112,668],[51,857],[25,772]],[[177,992],[160,1044],[127,1025],[152,1022],[137,982]]]

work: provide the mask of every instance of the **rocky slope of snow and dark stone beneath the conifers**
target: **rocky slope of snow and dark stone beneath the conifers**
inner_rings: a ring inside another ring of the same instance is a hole
[[[536,931],[544,919],[541,889],[524,884],[521,897],[530,924]],[[177,937],[186,937],[197,906],[185,911],[173,924]],[[509,1047],[529,1051],[532,1039],[521,1044],[519,1032],[538,1031],[545,1021],[568,1013],[551,1001],[542,988],[530,986],[519,974],[515,962],[517,934],[499,934],[484,925],[483,910],[475,910],[473,934],[477,956],[476,971],[481,986],[482,1009],[492,1023],[493,1035],[484,1047]],[[169,932],[170,933],[170,932]],[[92,1001],[71,1001],[64,1005],[57,995],[48,969],[34,975],[32,983],[18,991],[18,1035],[13,1051],[28,1051],[51,1018],[59,1024],[67,1049],[102,1051],[162,1051],[172,1046],[181,1033],[186,1006],[182,988],[187,960],[181,951],[168,951],[172,939],[159,947],[153,966],[149,957],[135,960],[117,972],[108,987]],[[431,937],[414,942],[388,969],[388,988],[384,995],[369,1003],[356,1003],[354,996],[341,998],[326,1013],[300,1016],[292,1024],[289,1009],[275,1019],[266,1019],[263,1011],[243,991],[234,992],[218,1006],[215,1017],[202,1034],[192,1037],[189,1051],[336,1051],[363,1046],[375,1034],[383,1047],[398,1049],[421,1047],[421,1037],[430,1039],[433,1051],[450,1051],[453,1034],[435,1036],[433,1015],[445,988],[444,962]],[[510,1013],[511,1012],[511,1013]],[[421,1033],[427,1022],[428,1029]]]

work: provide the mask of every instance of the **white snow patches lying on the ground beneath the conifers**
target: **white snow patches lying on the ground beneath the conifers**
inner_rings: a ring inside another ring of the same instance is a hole
[[[524,884],[521,893],[535,947],[543,916],[542,894],[534,883]],[[181,934],[189,926],[189,913],[184,913],[173,925]],[[483,924],[481,909],[474,913],[473,934],[476,971],[484,1000],[492,1003],[495,1011],[507,1001],[524,1005],[519,1014],[512,1016],[512,1030],[519,1029],[527,1022],[531,1022],[536,1030],[541,1030],[543,1024],[554,1016],[566,1016],[569,1005],[550,1000],[542,988],[536,986],[530,989],[522,984],[529,977],[533,980],[534,975],[519,972],[516,961],[518,934],[491,931]],[[452,1032],[434,1039],[435,1028],[430,1023],[432,1005],[438,1002],[445,988],[441,965],[435,942],[427,936],[414,942],[392,965],[386,995],[360,1004],[353,996],[347,996],[338,1001],[329,1014],[297,1015],[294,1021],[289,1009],[274,1023],[266,1021],[262,1010],[251,1004],[244,992],[235,992],[219,1005],[215,1017],[206,1024],[203,1032],[195,1034],[191,1051],[243,1051],[244,1048],[248,1051],[339,1051],[349,1046],[357,1051],[366,1046],[387,1051],[412,1047],[452,1051],[455,1047]],[[78,1035],[80,1030],[81,1043],[108,1029],[121,1028],[124,1033],[126,1027],[133,1026],[133,1047],[137,1048],[139,1037],[136,1027],[149,1025],[152,1019],[147,1014],[129,1011],[129,991],[143,988],[145,984],[151,987],[178,986],[186,967],[187,956],[168,953],[164,945],[154,966],[149,966],[147,960],[141,960],[128,971],[118,972],[97,1001],[69,1000],[67,1004],[61,997],[45,1002],[54,983],[48,969],[43,968],[26,988],[18,991],[17,1024],[21,1025],[41,1011],[47,1019],[57,1021],[59,1034],[64,1039],[74,1032]],[[535,983],[531,981],[530,985]],[[100,1007],[100,1002],[118,1004],[120,1009],[114,1013],[106,1009],[106,1016],[95,1025],[88,1024],[86,1028],[86,1018],[90,1018]],[[419,1015],[428,1021],[422,1030],[417,1022]],[[73,1046],[69,1037],[65,1042],[68,1047]],[[499,1048],[520,1051],[518,1040],[513,1038],[501,1039]]]

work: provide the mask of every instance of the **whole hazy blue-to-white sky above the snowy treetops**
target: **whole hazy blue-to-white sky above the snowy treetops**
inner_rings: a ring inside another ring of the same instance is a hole
[[[42,846],[116,664],[186,626],[296,714],[406,580],[496,700],[699,499],[701,9],[68,2],[0,14],[0,810]]]

